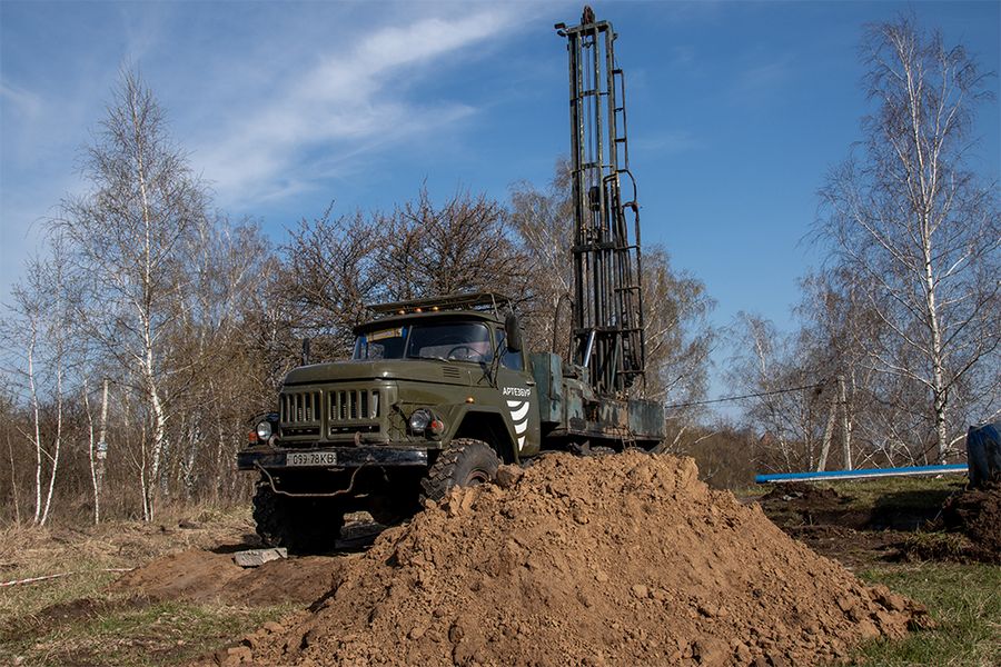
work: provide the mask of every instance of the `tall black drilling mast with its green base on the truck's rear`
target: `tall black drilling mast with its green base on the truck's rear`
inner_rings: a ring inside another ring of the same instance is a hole
[[[568,369],[561,370],[569,378],[563,382],[566,400],[573,408],[579,400],[584,409],[573,409],[551,435],[650,448],[664,436],[663,407],[630,399],[627,394],[644,380],[646,340],[640,205],[630,171],[625,74],[614,48],[617,34],[611,22],[595,20],[589,7],[579,26],[557,23],[555,29],[567,40],[574,210],[573,359]],[[627,197],[623,181],[628,185]],[[533,356],[533,366],[545,362],[559,359]]]

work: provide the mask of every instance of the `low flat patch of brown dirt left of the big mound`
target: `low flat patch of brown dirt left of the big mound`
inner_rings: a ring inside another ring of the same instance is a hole
[[[157,558],[121,576],[111,590],[150,600],[218,600],[241,605],[309,604],[330,589],[340,559],[311,556],[244,569],[231,554],[191,549]]]

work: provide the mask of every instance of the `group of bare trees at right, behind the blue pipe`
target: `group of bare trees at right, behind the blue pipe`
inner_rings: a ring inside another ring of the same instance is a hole
[[[820,189],[826,261],[802,280],[801,327],[734,327],[729,377],[767,394],[744,407],[772,469],[943,464],[1001,415],[998,183],[973,169],[997,74],[911,17],[870,26],[861,52],[873,111]]]

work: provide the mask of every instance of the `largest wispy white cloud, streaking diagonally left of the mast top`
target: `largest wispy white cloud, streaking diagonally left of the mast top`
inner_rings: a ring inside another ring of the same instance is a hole
[[[509,7],[487,8],[457,19],[381,27],[354,43],[340,42],[300,74],[276,82],[267,102],[226,123],[224,136],[196,150],[196,167],[224,205],[276,199],[336,175],[359,151],[466,118],[475,113],[467,103],[418,102],[404,81],[420,80],[443,58],[483,43],[513,20]],[[339,158],[304,158],[309,151]]]

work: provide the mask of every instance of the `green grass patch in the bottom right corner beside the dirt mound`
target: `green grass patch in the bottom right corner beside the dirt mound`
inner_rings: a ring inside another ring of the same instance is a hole
[[[1001,568],[992,565],[923,563],[859,574],[929,608],[938,627],[896,641],[861,647],[866,665],[980,667],[1001,665]]]

